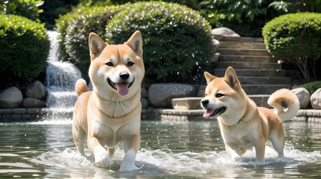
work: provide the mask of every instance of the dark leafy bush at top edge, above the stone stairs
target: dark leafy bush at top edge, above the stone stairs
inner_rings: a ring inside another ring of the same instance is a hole
[[[267,1],[202,0],[200,12],[213,28],[224,26],[241,36],[259,37],[264,24],[276,15],[268,11]]]

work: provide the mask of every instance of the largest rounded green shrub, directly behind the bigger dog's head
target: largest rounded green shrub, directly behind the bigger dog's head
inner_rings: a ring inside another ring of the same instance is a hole
[[[125,5],[107,24],[107,42],[123,43],[139,30],[145,77],[154,82],[185,81],[210,65],[211,28],[199,12],[166,2]]]

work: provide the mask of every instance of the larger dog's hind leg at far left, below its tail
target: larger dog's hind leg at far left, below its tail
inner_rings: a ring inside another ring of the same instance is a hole
[[[77,119],[74,117],[73,118],[73,137],[74,137],[74,141],[78,152],[83,156],[85,156],[84,142],[85,142],[86,135],[87,134],[85,130],[79,125]]]

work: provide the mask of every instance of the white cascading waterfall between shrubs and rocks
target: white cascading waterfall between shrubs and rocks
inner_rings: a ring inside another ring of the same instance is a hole
[[[48,31],[47,34],[50,40],[45,81],[47,115],[52,119],[70,118],[77,100],[75,84],[81,78],[81,72],[70,62],[60,62],[58,32]]]

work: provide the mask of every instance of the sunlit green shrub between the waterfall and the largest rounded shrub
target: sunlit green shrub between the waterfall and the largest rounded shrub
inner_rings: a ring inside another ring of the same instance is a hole
[[[85,74],[90,65],[88,37],[95,32],[103,39],[107,21],[118,11],[118,6],[93,6],[81,12],[70,21],[65,36],[66,52],[69,59]]]

